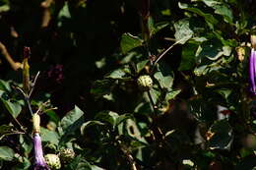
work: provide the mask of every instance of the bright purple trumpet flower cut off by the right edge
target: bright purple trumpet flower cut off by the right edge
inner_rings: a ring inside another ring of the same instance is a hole
[[[249,90],[252,95],[256,95],[256,51],[251,49],[249,58]]]

